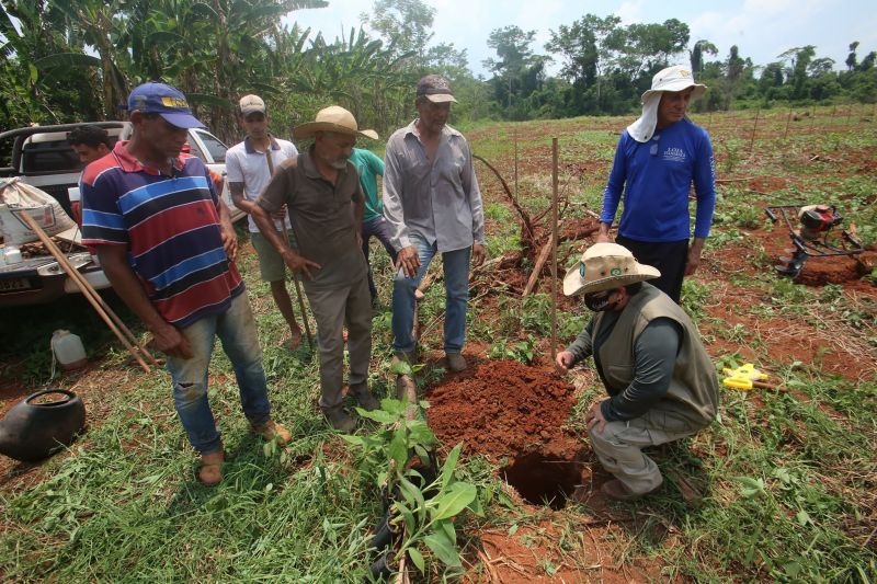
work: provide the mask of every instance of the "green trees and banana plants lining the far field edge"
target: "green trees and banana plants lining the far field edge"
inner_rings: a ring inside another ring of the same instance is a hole
[[[323,0],[0,0],[0,127],[31,123],[117,119],[138,83],[180,88],[221,138],[237,136],[235,104],[265,98],[276,127],[311,119],[337,103],[381,135],[413,115],[417,80],[447,77],[458,94],[455,118],[474,121],[627,114],[661,68],[690,62],[710,87],[699,110],[815,103],[874,103],[874,50],[859,58],[850,44],[845,70],[794,47],[755,65],[737,46],[727,55],[708,39],[692,43],[687,24],[623,25],[615,15],[585,14],[550,31],[491,31],[496,57],[475,77],[465,49],[435,42],[435,9],[422,0],[376,0],[361,25],[326,38],[295,22],[296,11]],[[548,75],[550,62],[560,65]]]

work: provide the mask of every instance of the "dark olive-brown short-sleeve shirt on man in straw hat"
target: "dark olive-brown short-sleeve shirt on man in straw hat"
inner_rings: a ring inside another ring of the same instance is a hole
[[[335,184],[327,181],[314,164],[312,148],[284,161],[257,201],[271,213],[284,204],[289,211],[298,253],[320,264],[304,278],[306,288],[334,289],[365,277],[367,266],[356,242],[351,203],[362,196],[356,169],[348,162]]]

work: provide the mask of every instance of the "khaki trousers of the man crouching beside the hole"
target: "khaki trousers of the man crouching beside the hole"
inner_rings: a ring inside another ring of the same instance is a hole
[[[603,468],[630,492],[641,494],[663,482],[658,465],[641,449],[692,436],[703,427],[675,412],[654,408],[627,422],[606,422],[601,434],[593,428],[588,434]]]

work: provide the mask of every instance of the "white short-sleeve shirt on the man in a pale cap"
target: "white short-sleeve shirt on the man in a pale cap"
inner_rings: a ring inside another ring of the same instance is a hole
[[[252,146],[250,138],[244,138],[242,142],[236,144],[226,152],[226,179],[229,183],[243,183],[243,196],[248,201],[255,201],[262,191],[265,190],[271,181],[267,156],[271,156],[272,168],[276,169],[281,163],[298,154],[293,142],[281,140],[271,136],[271,148],[267,152],[260,152]],[[250,224],[250,232],[255,233],[259,228],[252,217],[247,218]],[[280,230],[283,224],[274,221]],[[286,220],[287,229],[289,220]]]

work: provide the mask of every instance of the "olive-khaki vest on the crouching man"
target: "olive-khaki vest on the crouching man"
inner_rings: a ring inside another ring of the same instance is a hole
[[[600,331],[603,314],[596,316],[591,333],[592,343]],[[614,396],[624,391],[634,380],[634,345],[642,330],[657,318],[669,318],[682,329],[670,389],[657,406],[706,426],[716,417],[719,404],[716,367],[688,316],[669,296],[650,284],[643,283],[642,289],[630,297],[612,332],[600,345],[601,373],[608,386],[606,389]]]

